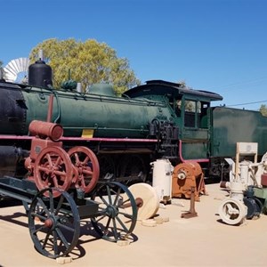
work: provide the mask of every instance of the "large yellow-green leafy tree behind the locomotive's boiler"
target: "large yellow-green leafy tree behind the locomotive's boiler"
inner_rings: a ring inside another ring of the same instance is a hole
[[[82,83],[82,88],[96,83],[109,83],[117,93],[140,85],[141,81],[129,68],[125,58],[117,58],[117,53],[105,43],[89,39],[84,43],[71,38],[68,40],[47,39],[37,44],[30,53],[30,61],[37,60],[43,50],[44,61],[53,69],[53,86],[59,88],[63,81],[71,79]]]

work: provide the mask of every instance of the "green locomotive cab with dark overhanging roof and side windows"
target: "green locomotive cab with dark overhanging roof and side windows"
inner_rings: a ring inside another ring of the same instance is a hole
[[[182,84],[151,80],[125,92],[131,98],[166,101],[169,117],[178,128],[177,161],[207,161],[210,156],[211,102],[221,101],[217,93],[193,90]]]

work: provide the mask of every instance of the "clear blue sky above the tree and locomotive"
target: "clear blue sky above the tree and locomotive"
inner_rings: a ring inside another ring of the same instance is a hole
[[[218,105],[267,105],[265,0],[1,0],[0,6],[4,65],[49,38],[95,39],[128,59],[142,83],[183,80],[222,94]]]

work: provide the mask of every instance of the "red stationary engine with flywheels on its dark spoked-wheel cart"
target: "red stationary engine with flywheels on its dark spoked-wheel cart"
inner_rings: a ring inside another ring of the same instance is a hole
[[[34,120],[29,132],[34,137],[25,160],[28,177],[4,176],[0,194],[22,200],[36,250],[51,258],[69,255],[77,247],[81,220],[92,223],[103,239],[128,239],[137,221],[130,190],[119,182],[99,182],[92,150],[64,150],[61,125]]]

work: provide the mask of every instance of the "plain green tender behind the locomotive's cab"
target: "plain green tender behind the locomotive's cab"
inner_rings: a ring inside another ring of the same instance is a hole
[[[231,158],[237,142],[256,142],[258,155],[267,148],[267,117],[258,111],[216,107],[213,109],[212,156]]]

